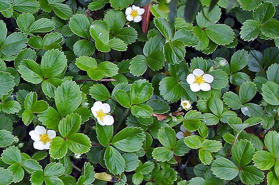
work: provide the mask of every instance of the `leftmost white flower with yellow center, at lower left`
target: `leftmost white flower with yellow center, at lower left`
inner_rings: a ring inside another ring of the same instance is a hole
[[[51,139],[55,138],[54,130],[47,130],[45,127],[36,126],[34,130],[29,132],[31,139],[34,140],[33,146],[37,150],[49,149]]]

